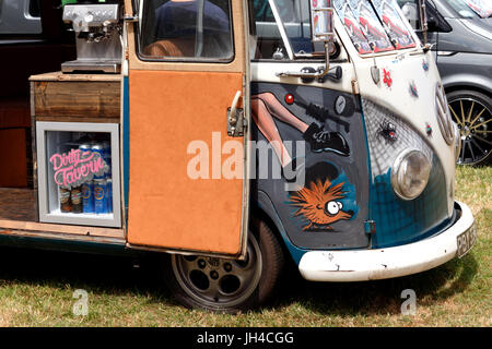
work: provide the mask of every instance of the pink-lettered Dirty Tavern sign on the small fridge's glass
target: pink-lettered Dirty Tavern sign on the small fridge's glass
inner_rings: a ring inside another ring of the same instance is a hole
[[[80,186],[94,176],[103,176],[109,171],[109,167],[97,152],[71,149],[68,153],[52,155],[49,161],[55,171],[55,182],[65,189]]]

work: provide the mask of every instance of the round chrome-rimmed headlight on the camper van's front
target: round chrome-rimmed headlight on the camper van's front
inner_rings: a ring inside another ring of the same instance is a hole
[[[419,196],[427,185],[431,164],[420,151],[403,151],[391,168],[391,185],[395,193],[403,200]]]

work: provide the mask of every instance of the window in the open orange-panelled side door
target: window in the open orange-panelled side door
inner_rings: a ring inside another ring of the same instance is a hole
[[[142,58],[231,61],[230,0],[144,1],[139,40]]]

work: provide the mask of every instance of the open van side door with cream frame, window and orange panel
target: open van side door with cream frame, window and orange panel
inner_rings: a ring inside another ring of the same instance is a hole
[[[246,250],[247,157],[245,139],[227,135],[227,108],[237,92],[244,97],[249,91],[245,2],[211,0],[190,14],[203,12],[202,20],[179,22],[175,14],[194,3],[145,1],[141,23],[127,27],[127,240],[137,248],[237,257]],[[202,29],[190,31],[189,23]]]

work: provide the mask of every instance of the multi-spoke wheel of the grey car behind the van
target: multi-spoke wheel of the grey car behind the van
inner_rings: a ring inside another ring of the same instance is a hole
[[[457,164],[487,164],[492,151],[491,98],[479,92],[461,89],[447,94],[447,100],[461,135]]]

